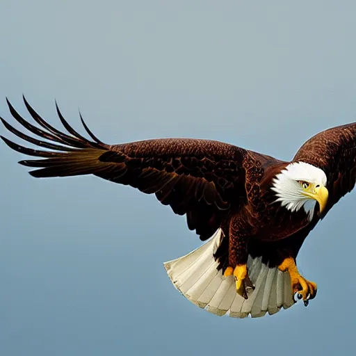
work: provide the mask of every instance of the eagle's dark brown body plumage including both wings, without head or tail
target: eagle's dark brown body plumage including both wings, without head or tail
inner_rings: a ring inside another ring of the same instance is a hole
[[[9,104],[13,117],[40,138],[27,136],[1,119],[6,129],[44,147],[31,149],[3,138],[17,152],[40,159],[20,161],[37,168],[33,177],[95,175],[138,188],[179,215],[202,241],[221,229],[214,258],[218,270],[252,257],[273,267],[300,247],[321,216],[309,221],[305,211],[291,212],[276,203],[274,177],[293,161],[321,168],[330,192],[326,212],[355,185],[356,124],[328,129],[307,141],[291,162],[213,140],[168,138],[107,145],[83,125],[90,139],[58,115],[67,133],[44,121],[26,102],[33,124]]]

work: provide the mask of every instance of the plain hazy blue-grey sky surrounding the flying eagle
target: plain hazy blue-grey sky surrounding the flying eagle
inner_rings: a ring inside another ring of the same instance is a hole
[[[355,1],[0,1],[0,115],[54,98],[106,143],[223,140],[289,160],[355,121]],[[17,125],[16,125],[17,127]],[[6,133],[0,127],[0,133]],[[19,142],[19,140],[17,140]],[[318,283],[274,316],[219,318],[163,261],[200,245],[154,196],[34,179],[0,144],[0,355],[335,355],[355,350],[355,193],[298,257]]]

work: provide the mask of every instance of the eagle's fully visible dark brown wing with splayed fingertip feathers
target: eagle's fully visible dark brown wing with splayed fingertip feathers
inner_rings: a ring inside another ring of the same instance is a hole
[[[159,139],[122,145],[106,145],[83,122],[92,140],[81,136],[57,112],[68,133],[45,122],[26,102],[35,126],[24,120],[8,102],[10,113],[23,127],[39,136],[32,138],[10,126],[6,129],[20,138],[49,150],[5,143],[17,152],[41,159],[20,161],[39,168],[33,177],[96,175],[115,183],[128,184],[144,193],[155,193],[162,204],[179,215],[186,214],[188,227],[202,240],[209,238],[229,211],[238,211],[246,202],[243,161],[252,152],[211,140]],[[48,142],[49,140],[50,142]]]

